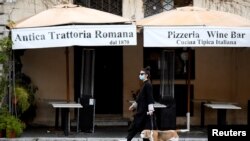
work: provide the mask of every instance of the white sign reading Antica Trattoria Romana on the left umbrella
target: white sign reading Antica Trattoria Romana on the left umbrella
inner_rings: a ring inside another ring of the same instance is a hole
[[[135,25],[67,25],[12,29],[13,49],[136,45]]]

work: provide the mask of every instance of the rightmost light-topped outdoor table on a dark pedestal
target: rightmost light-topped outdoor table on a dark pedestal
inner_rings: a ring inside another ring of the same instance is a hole
[[[227,110],[237,110],[241,107],[232,103],[207,103],[204,106],[217,110],[217,124],[226,125],[226,112]]]

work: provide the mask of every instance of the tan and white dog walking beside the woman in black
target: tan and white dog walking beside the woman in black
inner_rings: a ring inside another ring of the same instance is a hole
[[[179,141],[177,132],[178,130],[143,130],[140,136],[150,141]]]

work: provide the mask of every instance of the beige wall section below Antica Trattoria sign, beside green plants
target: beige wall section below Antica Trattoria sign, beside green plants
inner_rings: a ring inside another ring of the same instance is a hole
[[[69,48],[69,90],[74,100],[73,48]],[[37,115],[34,123],[54,125],[55,109],[50,101],[67,100],[65,48],[30,49],[22,56],[22,71],[30,76],[38,91],[35,95]],[[73,112],[71,112],[73,113]]]

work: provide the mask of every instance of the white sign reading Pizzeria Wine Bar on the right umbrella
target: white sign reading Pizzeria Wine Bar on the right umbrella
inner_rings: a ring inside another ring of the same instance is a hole
[[[250,27],[146,26],[144,47],[250,47]]]

